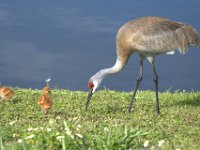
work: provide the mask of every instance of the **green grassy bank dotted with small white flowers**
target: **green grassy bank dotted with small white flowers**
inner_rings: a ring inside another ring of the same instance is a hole
[[[14,89],[0,102],[0,149],[200,149],[200,92],[96,92],[85,112],[86,92],[54,89],[53,108],[44,116],[40,90]],[[162,145],[159,143],[163,142]],[[148,143],[148,148],[144,147]]]

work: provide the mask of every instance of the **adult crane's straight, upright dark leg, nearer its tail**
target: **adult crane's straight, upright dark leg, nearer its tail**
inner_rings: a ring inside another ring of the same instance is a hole
[[[152,65],[152,69],[153,69],[153,80],[155,83],[155,92],[156,92],[156,112],[157,114],[160,114],[160,108],[159,108],[159,99],[158,99],[158,74],[156,72],[156,68],[155,68],[155,63],[154,63],[154,57],[150,57],[148,58],[149,62]]]

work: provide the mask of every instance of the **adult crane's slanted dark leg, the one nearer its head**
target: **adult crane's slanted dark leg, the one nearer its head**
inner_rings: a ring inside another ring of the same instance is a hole
[[[135,91],[133,93],[131,102],[130,102],[129,107],[128,107],[128,112],[131,111],[131,107],[132,107],[133,101],[135,99],[135,95],[136,95],[137,89],[138,89],[138,87],[139,87],[139,85],[140,85],[140,83],[142,81],[142,76],[143,76],[143,60],[144,60],[144,57],[140,56],[139,75],[138,75],[138,78],[137,78],[137,82],[136,82],[136,86],[135,86]]]

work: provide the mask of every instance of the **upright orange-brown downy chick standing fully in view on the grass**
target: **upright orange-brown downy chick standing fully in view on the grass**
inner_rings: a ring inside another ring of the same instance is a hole
[[[49,109],[52,107],[53,102],[50,96],[51,90],[48,86],[45,86],[42,90],[42,96],[38,100],[38,105],[45,111],[45,115],[48,114]]]

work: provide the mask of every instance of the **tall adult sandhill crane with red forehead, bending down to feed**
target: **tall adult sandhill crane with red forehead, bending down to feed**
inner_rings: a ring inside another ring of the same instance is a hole
[[[117,59],[115,65],[111,68],[98,71],[89,79],[89,94],[86,103],[86,111],[93,93],[99,87],[102,80],[107,75],[121,71],[131,54],[137,53],[140,57],[139,76],[133,97],[128,107],[128,112],[131,111],[137,89],[142,81],[143,60],[147,58],[154,73],[156,112],[159,114],[158,74],[155,68],[155,56],[163,53],[173,54],[176,49],[178,49],[181,54],[185,54],[189,45],[195,45],[200,48],[198,32],[188,24],[160,17],[143,17],[125,23],[118,30],[116,36]]]

